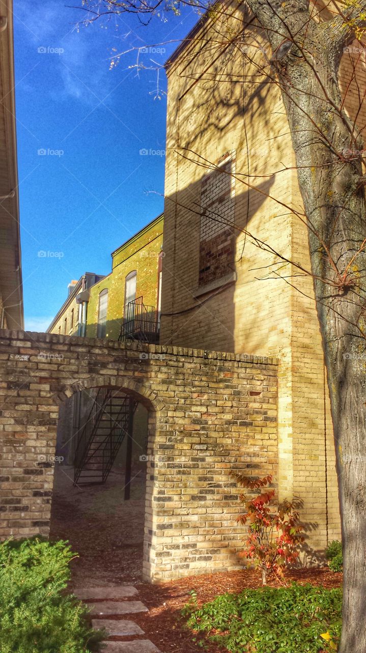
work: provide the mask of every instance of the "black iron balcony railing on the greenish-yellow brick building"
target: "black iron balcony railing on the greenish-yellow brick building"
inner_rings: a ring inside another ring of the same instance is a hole
[[[159,313],[154,306],[146,306],[142,296],[128,302],[119,340],[140,340],[156,344],[159,342],[159,330]]]

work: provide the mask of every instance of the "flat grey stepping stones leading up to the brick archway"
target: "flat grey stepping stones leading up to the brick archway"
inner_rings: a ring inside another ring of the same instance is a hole
[[[92,615],[92,627],[105,628],[109,637],[141,637],[144,631],[129,618],[122,618],[134,613],[148,612],[146,605],[136,601],[138,592],[131,585],[117,587],[76,588],[75,596],[87,602]],[[119,600],[115,600],[119,599]],[[93,603],[95,601],[95,603]],[[90,603],[91,602],[91,603]],[[105,619],[104,616],[117,617]],[[149,639],[102,642],[102,653],[161,653]]]

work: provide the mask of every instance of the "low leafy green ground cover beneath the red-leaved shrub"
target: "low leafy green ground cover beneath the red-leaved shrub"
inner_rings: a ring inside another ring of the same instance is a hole
[[[232,653],[318,653],[337,648],[342,593],[310,584],[224,594],[185,607],[188,627]]]

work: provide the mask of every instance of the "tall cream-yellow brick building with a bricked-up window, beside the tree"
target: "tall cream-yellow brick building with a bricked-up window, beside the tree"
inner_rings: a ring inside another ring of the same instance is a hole
[[[276,480],[280,499],[302,501],[311,560],[340,537],[335,451],[313,281],[287,263],[310,269],[289,125],[263,72],[266,51],[253,17],[231,5],[206,14],[167,62],[160,343],[278,359]],[[341,67],[343,88],[350,69]],[[345,106],[356,115],[349,96]],[[263,428],[249,449],[268,437]]]

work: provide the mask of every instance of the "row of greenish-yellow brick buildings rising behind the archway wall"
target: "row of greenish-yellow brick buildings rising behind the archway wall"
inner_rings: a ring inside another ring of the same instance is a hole
[[[162,286],[163,214],[129,238],[111,253],[112,270],[107,276],[86,272],[68,285],[68,297],[55,315],[48,333],[89,338],[124,336],[124,323],[136,326],[140,314],[147,315],[143,326],[158,339],[159,306]],[[127,315],[127,306],[135,308]],[[134,323],[134,324],[132,324]],[[141,319],[138,323],[141,325]],[[130,334],[130,336],[139,334]],[[141,334],[140,334],[141,335]],[[138,338],[137,338],[138,339]]]

